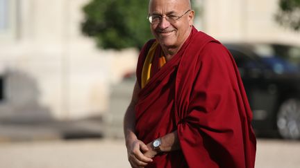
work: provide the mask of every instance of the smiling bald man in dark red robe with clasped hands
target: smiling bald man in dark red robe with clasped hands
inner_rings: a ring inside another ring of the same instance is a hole
[[[150,0],[156,37],[142,48],[124,116],[132,167],[253,168],[256,137],[238,68],[196,30],[189,0]]]

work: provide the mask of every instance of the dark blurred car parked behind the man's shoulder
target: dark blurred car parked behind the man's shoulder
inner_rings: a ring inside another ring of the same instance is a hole
[[[238,65],[256,133],[300,138],[300,48],[282,44],[224,44]]]

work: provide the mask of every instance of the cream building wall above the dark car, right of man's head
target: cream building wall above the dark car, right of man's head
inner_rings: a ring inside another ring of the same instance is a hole
[[[221,41],[276,41],[300,45],[299,32],[274,20],[278,0],[198,0],[201,30]]]

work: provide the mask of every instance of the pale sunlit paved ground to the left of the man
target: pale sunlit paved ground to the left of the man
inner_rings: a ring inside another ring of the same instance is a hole
[[[34,141],[0,144],[0,167],[129,167],[121,140]]]

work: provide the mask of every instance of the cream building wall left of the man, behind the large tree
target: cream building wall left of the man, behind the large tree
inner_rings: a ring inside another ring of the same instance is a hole
[[[5,1],[5,0],[3,0]],[[108,109],[110,84],[134,71],[136,50],[99,50],[81,34],[88,0],[12,0],[0,31],[0,120],[68,120]]]

